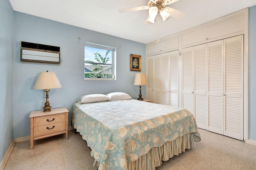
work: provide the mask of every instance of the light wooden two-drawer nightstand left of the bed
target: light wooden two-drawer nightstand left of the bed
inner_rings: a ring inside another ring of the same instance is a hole
[[[68,139],[68,109],[66,107],[51,109],[49,112],[31,111],[30,117],[30,149],[34,141],[54,135],[66,133]]]

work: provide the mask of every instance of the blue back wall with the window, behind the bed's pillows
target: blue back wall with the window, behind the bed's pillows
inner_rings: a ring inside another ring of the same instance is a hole
[[[20,41],[59,46],[61,64],[20,63]],[[116,47],[116,81],[84,80],[85,41]],[[30,135],[28,116],[31,111],[41,110],[44,106],[45,92],[32,89],[39,72],[55,72],[62,84],[62,88],[50,90],[49,102],[52,108],[67,107],[70,110],[69,126],[72,105],[82,95],[126,92],[132,98],[138,98],[139,87],[133,85],[138,72],[130,71],[130,54],[142,56],[142,72],[145,72],[145,44],[14,12],[14,138]],[[146,88],[142,90],[142,95],[146,95]]]

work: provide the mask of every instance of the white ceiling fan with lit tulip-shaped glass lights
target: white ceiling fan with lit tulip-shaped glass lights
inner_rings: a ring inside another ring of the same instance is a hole
[[[139,10],[148,10],[149,16],[147,18],[147,21],[154,23],[158,12],[162,17],[163,21],[165,21],[171,14],[172,14],[171,16],[174,18],[178,18],[184,15],[184,12],[175,10],[170,7],[166,7],[166,5],[172,4],[177,1],[178,0],[150,0],[148,1],[148,6],[126,8],[126,9],[120,9],[118,11],[120,13],[124,13],[124,12],[133,12],[133,11],[139,11]]]

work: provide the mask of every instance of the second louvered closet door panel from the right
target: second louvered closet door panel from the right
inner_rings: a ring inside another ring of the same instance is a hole
[[[208,130],[223,135],[223,40],[208,43]]]

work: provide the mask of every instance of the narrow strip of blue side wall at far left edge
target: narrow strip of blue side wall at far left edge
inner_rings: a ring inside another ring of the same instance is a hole
[[[0,1],[0,162],[13,135],[13,20],[9,0]]]

